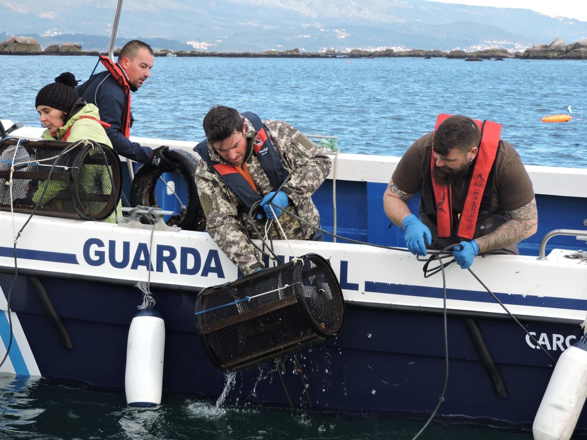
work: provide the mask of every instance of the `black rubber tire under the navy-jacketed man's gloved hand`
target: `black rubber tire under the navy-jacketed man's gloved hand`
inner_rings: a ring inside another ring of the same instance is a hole
[[[188,196],[187,209],[168,219],[167,225],[179,226],[187,231],[204,231],[206,229],[206,215],[200,204],[194,177],[198,160],[187,151],[177,150],[176,148],[170,148],[164,154],[166,158],[176,165],[176,172],[185,181]],[[161,174],[163,174],[161,170],[151,164],[146,164],[139,168],[134,175],[133,184],[130,188],[131,207],[136,207],[137,205],[158,207],[155,186]]]

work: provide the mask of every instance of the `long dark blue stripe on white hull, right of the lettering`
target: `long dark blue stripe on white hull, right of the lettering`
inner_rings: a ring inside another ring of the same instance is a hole
[[[393,293],[394,295],[424,296],[427,298],[442,298],[441,287],[412,286],[394,283],[365,282],[365,292]],[[552,296],[519,295],[518,293],[493,292],[504,304],[515,306],[552,307],[553,309],[587,310],[587,300],[572,298],[556,298]],[[447,299],[474,301],[480,303],[494,303],[495,300],[488,292],[476,290],[446,289]]]

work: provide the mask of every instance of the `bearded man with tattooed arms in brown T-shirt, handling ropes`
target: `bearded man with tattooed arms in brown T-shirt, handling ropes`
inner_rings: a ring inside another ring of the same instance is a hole
[[[538,228],[532,182],[501,126],[462,115],[441,114],[432,133],[411,145],[383,195],[389,219],[404,229],[414,255],[456,246],[463,269],[479,253],[503,249],[519,255],[517,243]],[[418,219],[407,201],[420,194]]]

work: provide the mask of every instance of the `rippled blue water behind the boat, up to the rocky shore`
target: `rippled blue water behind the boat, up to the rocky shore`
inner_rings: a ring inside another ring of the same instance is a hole
[[[0,57],[0,117],[38,125],[38,90],[65,70],[85,80],[95,62]],[[501,123],[525,164],[586,167],[587,121],[540,121],[569,105],[587,118],[585,69],[584,60],[157,58],[133,94],[131,133],[195,142],[208,109],[227,104],[340,136],[346,153],[402,155],[438,113],[461,113]]]

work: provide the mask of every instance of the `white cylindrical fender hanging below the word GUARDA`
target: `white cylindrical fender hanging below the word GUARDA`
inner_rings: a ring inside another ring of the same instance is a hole
[[[126,402],[149,407],[161,403],[165,321],[152,309],[141,310],[130,323],[126,348]]]

